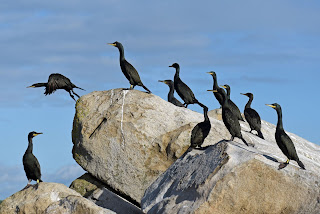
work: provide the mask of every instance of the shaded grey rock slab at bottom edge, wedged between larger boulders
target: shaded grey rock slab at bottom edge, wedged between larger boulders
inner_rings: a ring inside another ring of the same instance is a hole
[[[139,207],[106,188],[97,189],[89,199],[96,205],[112,210],[115,213],[143,214]]]

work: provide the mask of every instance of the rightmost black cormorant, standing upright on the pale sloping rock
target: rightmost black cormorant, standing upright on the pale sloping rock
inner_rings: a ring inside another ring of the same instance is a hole
[[[283,129],[281,106],[278,103],[266,104],[266,105],[270,106],[271,108],[277,111],[278,123],[277,123],[275,138],[282,153],[288,158],[285,163],[281,163],[279,165],[279,169],[286,167],[289,164],[290,160],[295,160],[302,169],[305,169],[303,163],[300,161],[297,155],[296,148],[294,147],[294,144],[291,138],[286,134],[286,132]]]

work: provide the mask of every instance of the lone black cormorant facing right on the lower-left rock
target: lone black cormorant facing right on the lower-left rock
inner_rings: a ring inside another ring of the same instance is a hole
[[[29,145],[22,158],[24,171],[26,172],[26,176],[28,178],[28,184],[26,187],[30,186],[30,183],[32,180],[37,181],[37,183],[42,182],[39,161],[32,154],[32,150],[33,150],[32,138],[34,138],[39,134],[42,134],[42,133],[37,133],[33,131],[28,134]]]

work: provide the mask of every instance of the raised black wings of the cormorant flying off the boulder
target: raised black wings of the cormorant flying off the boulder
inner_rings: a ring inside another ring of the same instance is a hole
[[[72,88],[73,84],[70,79],[62,74],[51,74],[48,79],[48,85],[46,87],[45,94],[52,94],[57,89]]]

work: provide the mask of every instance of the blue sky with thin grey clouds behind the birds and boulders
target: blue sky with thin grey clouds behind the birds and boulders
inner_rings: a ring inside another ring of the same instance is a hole
[[[166,99],[180,64],[181,79],[209,110],[219,107],[212,93],[215,71],[229,84],[231,99],[252,107],[276,124],[279,103],[284,128],[320,145],[320,2],[316,0],[175,1],[4,1],[0,6],[0,199],[27,184],[22,156],[30,131],[42,180],[67,186],[84,171],[72,158],[75,102],[67,92],[44,96],[46,82],[61,73],[92,91],[127,88],[119,52],[106,45],[119,41],[126,59],[153,94]],[[136,87],[136,90],[143,90]],[[178,96],[178,95],[176,95]],[[190,109],[202,112],[196,105]]]

